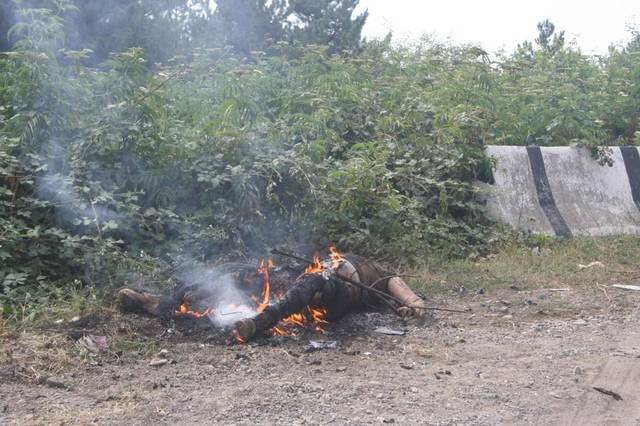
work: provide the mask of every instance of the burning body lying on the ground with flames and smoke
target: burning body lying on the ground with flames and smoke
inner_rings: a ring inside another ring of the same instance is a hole
[[[217,271],[215,285],[179,286],[164,297],[122,289],[118,298],[125,310],[209,317],[217,326],[230,328],[239,342],[268,332],[291,334],[294,326],[322,332],[323,323],[381,301],[400,315],[426,312],[424,301],[400,277],[360,256],[341,256],[334,248],[328,259],[316,257],[306,268],[262,262],[257,270],[227,264]],[[229,292],[231,287],[236,290]],[[189,308],[196,304],[204,309]]]

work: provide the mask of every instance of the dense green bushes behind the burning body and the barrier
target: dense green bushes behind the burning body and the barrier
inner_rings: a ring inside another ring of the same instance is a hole
[[[74,280],[120,285],[276,245],[477,255],[494,233],[472,187],[490,179],[483,144],[637,142],[637,40],[594,58],[547,23],[495,60],[432,40],[340,54],[281,40],[155,67],[131,47],[94,67],[66,44],[73,5],[56,4],[21,9],[0,59],[7,311]]]

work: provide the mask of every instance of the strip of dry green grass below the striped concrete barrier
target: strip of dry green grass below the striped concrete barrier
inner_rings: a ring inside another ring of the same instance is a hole
[[[587,269],[579,264],[601,262]],[[511,243],[479,260],[438,260],[418,270],[411,284],[439,293],[458,286],[467,289],[561,287],[640,281],[640,237],[532,238]]]

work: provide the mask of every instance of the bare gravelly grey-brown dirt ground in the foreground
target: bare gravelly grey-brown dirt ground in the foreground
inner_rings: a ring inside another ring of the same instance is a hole
[[[468,314],[359,312],[243,345],[116,311],[6,332],[0,423],[640,425],[640,292],[458,290],[431,302]]]

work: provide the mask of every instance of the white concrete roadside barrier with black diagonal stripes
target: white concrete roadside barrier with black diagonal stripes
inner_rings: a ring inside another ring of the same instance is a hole
[[[573,147],[487,146],[495,183],[481,184],[493,219],[556,236],[640,234],[640,151],[612,147],[613,166]]]

